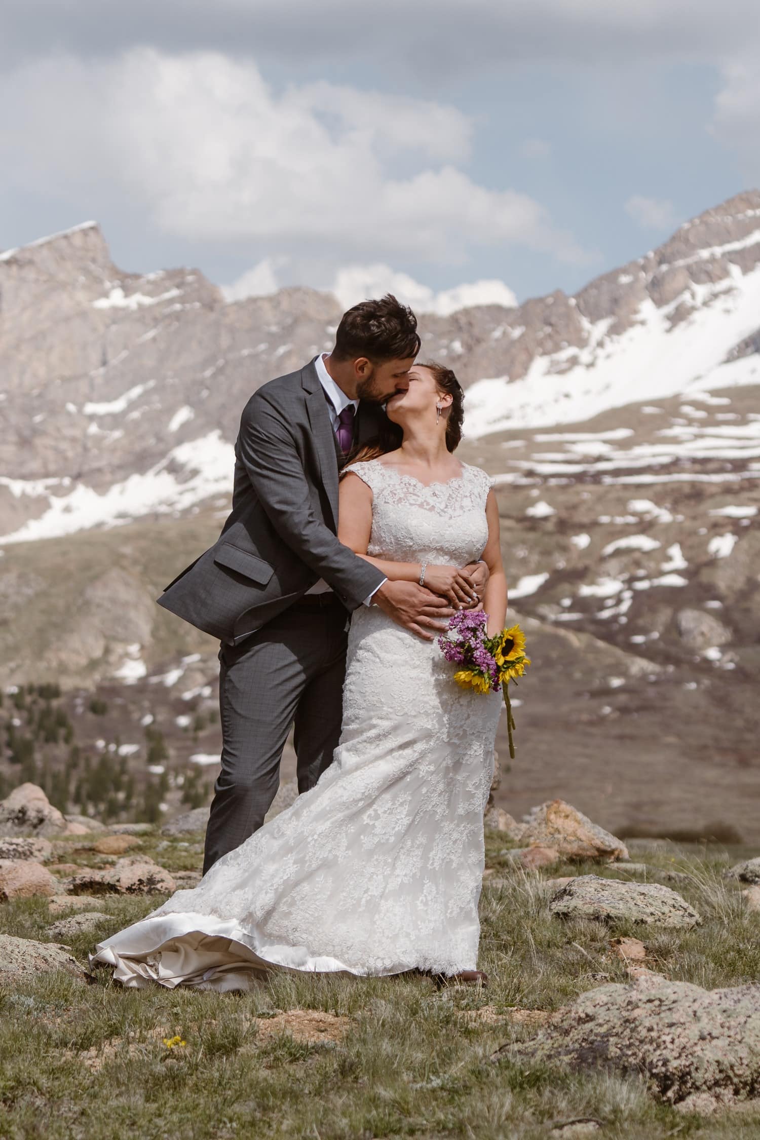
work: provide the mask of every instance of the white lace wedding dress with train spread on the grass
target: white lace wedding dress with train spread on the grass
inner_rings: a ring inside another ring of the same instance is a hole
[[[374,459],[369,554],[464,565],[488,537],[490,480],[424,486]],[[97,946],[129,986],[245,988],[262,968],[386,975],[474,969],[483,809],[498,694],[453,681],[435,642],[354,611],[334,763],[191,890]]]

